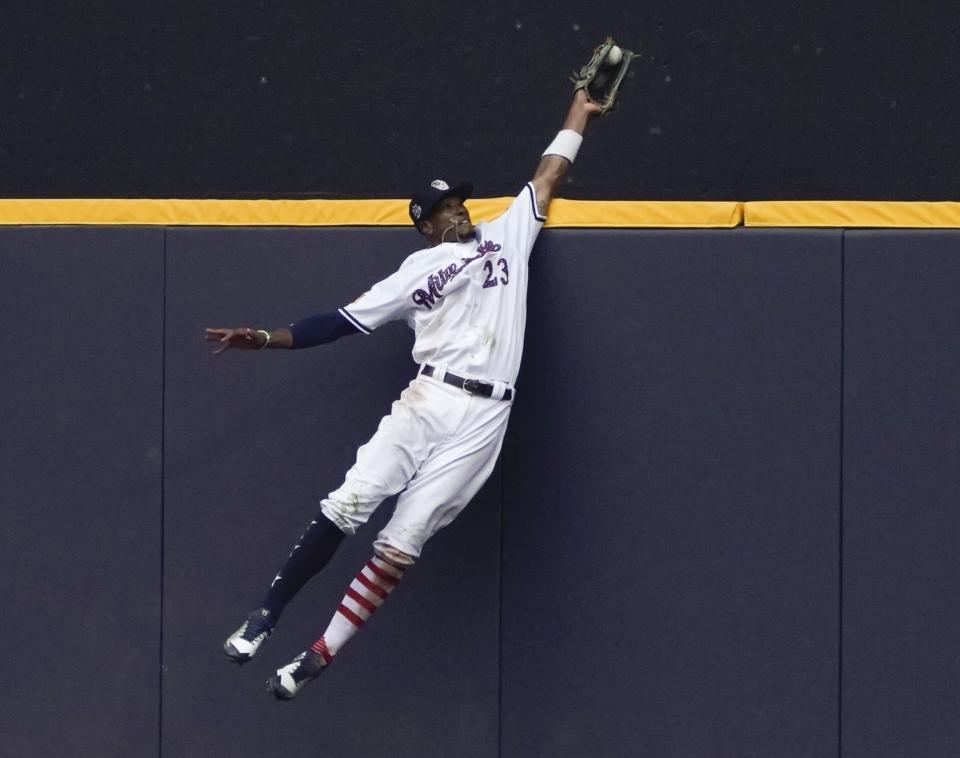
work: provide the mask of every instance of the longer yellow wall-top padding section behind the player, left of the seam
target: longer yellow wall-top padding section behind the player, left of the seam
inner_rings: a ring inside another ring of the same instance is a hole
[[[512,198],[476,198],[474,220],[493,218]],[[732,227],[736,202],[554,200],[547,226]],[[0,224],[159,226],[409,226],[406,200],[2,200]]]

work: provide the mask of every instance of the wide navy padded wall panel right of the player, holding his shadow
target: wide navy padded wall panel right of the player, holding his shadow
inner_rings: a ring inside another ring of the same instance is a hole
[[[504,758],[835,756],[840,233],[547,232]]]

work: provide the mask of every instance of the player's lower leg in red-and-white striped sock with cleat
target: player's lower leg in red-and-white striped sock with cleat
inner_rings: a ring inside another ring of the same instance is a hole
[[[323,635],[267,682],[278,700],[290,700],[316,679],[403,578],[414,557],[392,547],[378,549],[354,577]]]

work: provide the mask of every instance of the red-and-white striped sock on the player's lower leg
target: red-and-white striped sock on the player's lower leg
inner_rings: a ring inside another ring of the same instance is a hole
[[[367,561],[350,582],[347,592],[330,620],[323,636],[313,643],[311,650],[329,663],[340,648],[381,606],[403,578],[403,569],[374,556]]]

